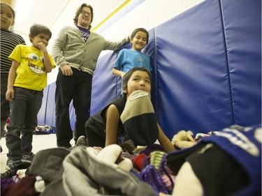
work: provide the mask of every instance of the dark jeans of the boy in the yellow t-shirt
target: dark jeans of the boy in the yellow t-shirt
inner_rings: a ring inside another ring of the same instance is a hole
[[[15,98],[10,101],[10,122],[7,126],[6,146],[8,159],[21,159],[22,153],[32,150],[33,133],[38,124],[43,91],[14,87]],[[20,137],[21,136],[21,137]]]

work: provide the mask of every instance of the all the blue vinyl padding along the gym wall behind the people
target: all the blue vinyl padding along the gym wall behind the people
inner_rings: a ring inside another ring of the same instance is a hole
[[[149,32],[143,52],[152,63],[152,103],[170,139],[179,130],[208,133],[261,123],[260,0],[206,0]],[[121,79],[111,73],[118,52],[99,58],[91,114],[120,95]],[[46,88],[38,114],[50,126],[54,88]]]

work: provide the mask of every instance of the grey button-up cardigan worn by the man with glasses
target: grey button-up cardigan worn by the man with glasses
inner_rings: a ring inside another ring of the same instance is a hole
[[[128,41],[126,37],[118,42],[110,42],[103,36],[90,32],[85,42],[78,27],[64,27],[54,40],[51,54],[57,66],[68,64],[93,75],[102,50],[117,50]]]

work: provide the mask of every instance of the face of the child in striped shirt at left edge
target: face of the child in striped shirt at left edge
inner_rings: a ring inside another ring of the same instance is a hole
[[[6,5],[1,6],[1,29],[9,31],[14,24],[13,11]]]

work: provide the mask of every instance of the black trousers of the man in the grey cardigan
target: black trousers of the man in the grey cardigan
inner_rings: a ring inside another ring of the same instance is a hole
[[[85,135],[85,122],[90,116],[92,75],[72,68],[73,75],[63,75],[59,69],[55,90],[55,115],[57,146],[70,147],[73,137],[69,116],[69,105],[75,108],[75,141]],[[85,135],[86,136],[86,135]]]

